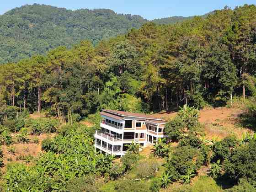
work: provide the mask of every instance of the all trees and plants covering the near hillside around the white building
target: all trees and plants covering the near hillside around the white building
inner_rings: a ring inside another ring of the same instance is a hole
[[[255,5],[225,7],[172,25],[145,23],[95,46],[83,40],[0,65],[0,166],[8,161],[1,189],[256,191],[255,23]],[[240,134],[206,139],[207,126],[222,134],[231,128],[220,119],[201,123],[199,110],[237,103],[245,107],[233,115]],[[152,154],[140,154],[133,143],[115,161],[93,148],[102,108],[178,112]],[[33,112],[39,117],[29,116]],[[42,135],[47,138],[38,139]],[[33,157],[24,149],[18,156],[19,144],[40,144],[42,153]],[[15,156],[21,163],[12,162]],[[203,169],[207,175],[199,177]]]

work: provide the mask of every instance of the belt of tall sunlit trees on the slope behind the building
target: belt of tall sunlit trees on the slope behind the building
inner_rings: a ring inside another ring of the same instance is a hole
[[[30,111],[73,107],[81,116],[102,107],[149,112],[225,103],[250,94],[243,74],[256,72],[255,22],[256,6],[245,5],[4,64],[1,102]]]

